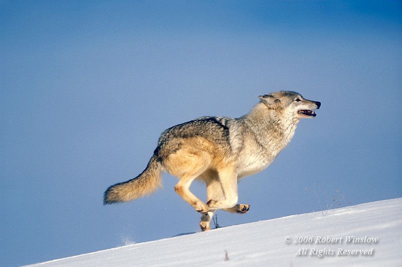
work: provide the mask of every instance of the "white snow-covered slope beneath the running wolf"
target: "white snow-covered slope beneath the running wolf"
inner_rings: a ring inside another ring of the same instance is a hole
[[[234,225],[31,266],[402,266],[401,215],[402,198],[397,198]],[[358,239],[347,242],[347,236]],[[290,242],[285,242],[287,237]],[[294,242],[296,237],[301,237],[300,242]]]

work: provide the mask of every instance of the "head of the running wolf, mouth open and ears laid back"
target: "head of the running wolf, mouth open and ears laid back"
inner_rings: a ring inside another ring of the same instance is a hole
[[[260,95],[261,101],[270,109],[280,113],[286,113],[293,118],[311,118],[317,114],[314,109],[319,109],[321,102],[308,100],[302,95],[292,91],[279,91]]]

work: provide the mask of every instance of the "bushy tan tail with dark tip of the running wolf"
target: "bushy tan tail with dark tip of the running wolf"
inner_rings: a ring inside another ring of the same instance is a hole
[[[105,191],[104,205],[125,202],[149,195],[161,186],[162,166],[155,155],[136,178],[112,185]]]

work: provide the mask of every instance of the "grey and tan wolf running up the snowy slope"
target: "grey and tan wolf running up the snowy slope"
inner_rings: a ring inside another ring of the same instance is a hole
[[[110,186],[104,204],[149,195],[161,186],[162,171],[176,176],[176,193],[201,213],[202,231],[211,229],[214,213],[223,209],[246,213],[238,204],[237,184],[268,167],[286,147],[302,118],[316,116],[321,102],[292,91],[259,96],[251,111],[239,118],[204,116],[162,132],[145,170],[129,181]],[[207,185],[207,202],[189,190],[195,180]]]

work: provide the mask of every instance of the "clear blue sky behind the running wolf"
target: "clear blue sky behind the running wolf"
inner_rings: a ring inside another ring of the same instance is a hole
[[[0,1],[0,265],[198,230],[175,177],[103,206],[160,133],[258,95],[322,102],[222,226],[402,195],[402,4]],[[205,198],[205,186],[192,191]]]

